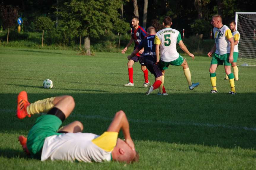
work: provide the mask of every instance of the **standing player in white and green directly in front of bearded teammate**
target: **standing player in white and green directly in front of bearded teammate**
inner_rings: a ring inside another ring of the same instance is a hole
[[[233,62],[234,39],[228,26],[222,24],[220,15],[212,16],[213,35],[215,44],[212,50],[207,54],[212,57],[211,66],[209,68],[212,83],[211,93],[217,93],[216,87],[216,69],[218,65],[223,65],[228,75],[231,91],[228,94],[236,94],[234,75],[231,73],[231,63]],[[214,53],[214,54],[213,54]],[[213,56],[212,56],[213,54]]]

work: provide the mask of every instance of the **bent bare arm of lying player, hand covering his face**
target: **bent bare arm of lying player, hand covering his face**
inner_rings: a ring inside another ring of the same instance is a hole
[[[125,137],[125,142],[132,148],[132,150],[135,150],[134,143],[130,135],[129,123],[125,113],[122,110],[115,114],[115,117],[109,125],[107,131],[119,132],[121,128]]]

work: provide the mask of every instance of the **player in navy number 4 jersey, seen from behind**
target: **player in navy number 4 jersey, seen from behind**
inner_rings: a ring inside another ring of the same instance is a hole
[[[150,73],[155,76],[155,83],[152,86],[149,86],[146,95],[149,95],[153,90],[157,89],[162,84],[162,72],[158,65],[156,65],[156,56],[155,56],[155,28],[149,27],[147,29],[148,36],[141,41],[137,48],[129,55],[128,60],[134,57],[137,52],[144,48],[144,64]],[[165,88],[163,86],[163,94],[167,95]]]

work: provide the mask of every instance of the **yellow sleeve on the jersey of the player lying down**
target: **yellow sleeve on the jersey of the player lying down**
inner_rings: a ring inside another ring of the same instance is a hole
[[[101,149],[110,152],[117,144],[117,136],[117,132],[105,131],[101,136],[93,139],[92,142]]]

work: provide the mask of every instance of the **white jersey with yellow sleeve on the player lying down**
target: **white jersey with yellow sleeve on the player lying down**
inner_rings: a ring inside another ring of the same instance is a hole
[[[63,133],[45,138],[41,161],[111,161],[111,151],[117,142],[117,132]]]

